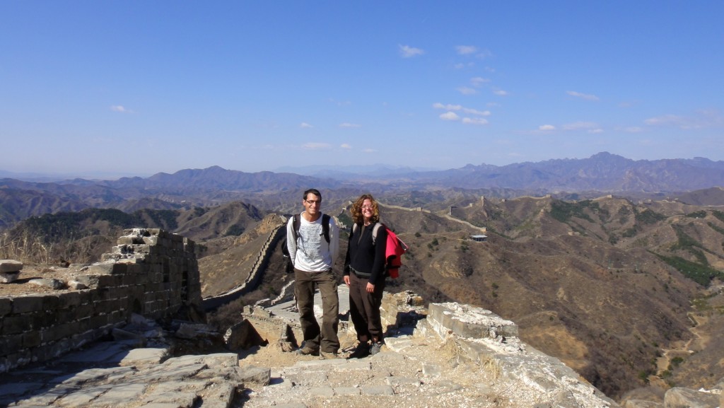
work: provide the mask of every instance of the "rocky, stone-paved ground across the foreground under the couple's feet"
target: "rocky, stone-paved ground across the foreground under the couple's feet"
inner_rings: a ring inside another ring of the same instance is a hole
[[[141,319],[142,320],[142,319]],[[52,365],[0,375],[0,407],[395,407],[532,406],[514,384],[464,361],[439,338],[388,339],[383,351],[346,359],[354,346],[342,335],[338,359],[285,352],[274,344],[230,353],[171,357],[159,328],[137,330],[143,347],[117,331],[106,341]],[[140,327],[136,323],[136,328]],[[151,333],[157,333],[153,335]],[[153,340],[156,336],[156,340]],[[127,338],[120,340],[120,338]],[[201,342],[200,338],[186,342]],[[177,341],[176,341],[177,342]],[[178,344],[176,344],[178,346]],[[524,403],[524,404],[523,404]],[[522,404],[522,405],[521,405]]]

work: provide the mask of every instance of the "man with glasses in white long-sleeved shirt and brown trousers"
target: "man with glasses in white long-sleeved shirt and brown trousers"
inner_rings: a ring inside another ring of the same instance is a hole
[[[340,339],[337,337],[340,299],[332,266],[340,249],[339,227],[334,218],[329,217],[329,232],[325,234],[327,228],[323,222],[327,217],[320,211],[321,193],[316,189],[304,192],[302,205],[304,212],[299,217],[299,230],[295,231],[294,217],[287,222],[287,249],[294,264],[294,292],[304,336],[304,345],[297,352],[335,358],[340,349]],[[296,240],[293,238],[295,236]],[[315,288],[319,288],[321,293],[321,328],[314,317]]]

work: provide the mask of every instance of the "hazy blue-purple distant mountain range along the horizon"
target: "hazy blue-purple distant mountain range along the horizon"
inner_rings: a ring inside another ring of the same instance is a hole
[[[402,167],[363,170],[315,167],[305,170],[315,175],[299,175],[241,172],[214,166],[118,180],[76,178],[39,182],[4,178],[0,179],[0,228],[48,212],[89,207],[138,209],[144,202],[151,203],[154,209],[170,209],[244,199],[259,208],[281,211],[298,204],[300,192],[309,187],[329,191],[327,197],[342,202],[360,191],[397,196],[411,191],[445,190],[508,197],[579,192],[641,196],[642,193],[683,193],[724,186],[724,162],[721,161],[631,160],[606,152],[587,159],[553,159],[506,166],[467,165],[437,171]],[[408,204],[420,205],[415,199],[410,200]]]

